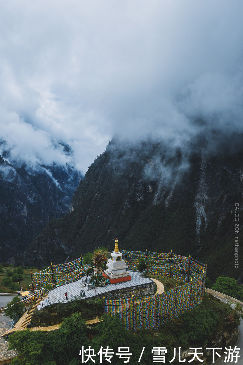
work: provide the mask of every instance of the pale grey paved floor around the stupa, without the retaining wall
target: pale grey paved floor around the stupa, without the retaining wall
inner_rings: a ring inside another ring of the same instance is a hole
[[[130,281],[124,281],[122,283],[115,283],[115,284],[106,284],[105,287],[99,287],[95,289],[87,290],[83,284],[81,283],[81,279],[72,281],[71,283],[60,285],[59,287],[56,287],[54,289],[51,289],[48,292],[48,298],[43,300],[43,306],[49,306],[50,304],[58,304],[60,303],[66,303],[67,301],[74,300],[74,297],[80,296],[80,291],[85,291],[85,296],[80,297],[80,299],[87,299],[87,298],[93,298],[95,297],[95,290],[96,295],[99,298],[103,299],[103,295],[109,292],[113,292],[116,290],[123,290],[126,288],[131,288],[131,290],[136,289],[136,287],[139,287],[140,285],[145,284],[151,284],[154,283],[150,278],[144,278],[141,276],[141,273],[129,271],[129,274],[131,276]],[[67,300],[65,297],[65,292],[67,292]],[[40,310],[42,308],[42,303],[40,303],[40,306],[38,306],[38,309]]]

